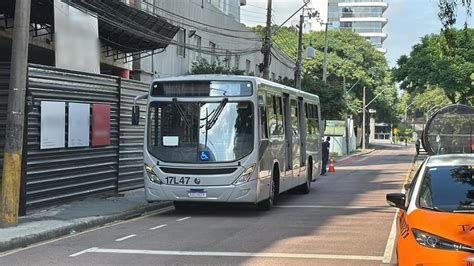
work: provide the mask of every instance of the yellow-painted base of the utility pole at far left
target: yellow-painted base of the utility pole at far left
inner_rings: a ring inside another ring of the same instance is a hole
[[[3,154],[3,180],[0,201],[0,226],[11,227],[18,224],[20,200],[21,155]]]

